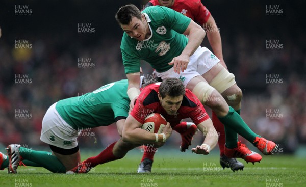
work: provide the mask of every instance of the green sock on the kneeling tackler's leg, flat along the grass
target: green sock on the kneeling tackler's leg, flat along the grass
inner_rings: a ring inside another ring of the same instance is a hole
[[[52,155],[52,153],[50,152],[35,151],[32,149],[20,147],[19,153],[23,159],[37,163],[38,164],[37,166],[44,167],[45,169],[53,173],[66,172],[65,166],[59,161],[59,159],[56,156]]]

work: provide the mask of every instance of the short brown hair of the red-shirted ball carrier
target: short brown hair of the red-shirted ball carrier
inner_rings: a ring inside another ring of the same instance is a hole
[[[162,98],[169,96],[169,97],[177,97],[184,95],[186,92],[185,86],[183,82],[178,78],[167,78],[165,79],[160,87],[159,93]]]

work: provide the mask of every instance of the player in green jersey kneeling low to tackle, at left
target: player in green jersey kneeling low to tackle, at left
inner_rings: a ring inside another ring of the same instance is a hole
[[[0,169],[17,173],[22,161],[25,165],[44,167],[54,173],[64,173],[80,163],[78,133],[85,128],[108,126],[116,122],[121,136],[124,121],[129,113],[130,99],[126,95],[127,80],[107,84],[82,96],[71,97],[54,103],[47,110],[40,140],[49,144],[52,153],[35,151],[11,144],[7,148],[8,158],[0,153]],[[122,150],[131,150],[135,145],[121,139],[112,156],[123,157]]]

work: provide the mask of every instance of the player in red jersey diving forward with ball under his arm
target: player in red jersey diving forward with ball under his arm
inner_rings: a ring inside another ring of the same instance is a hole
[[[141,129],[145,117],[151,113],[160,113],[167,121],[167,125],[160,134],[150,133]],[[170,137],[172,128],[180,131],[177,128],[180,128],[179,124],[185,118],[191,118],[197,124],[197,128],[206,136],[202,145],[192,148],[192,152],[209,154],[218,141],[218,135],[211,119],[201,102],[190,90],[185,89],[180,79],[168,78],[162,83],[151,84],[141,91],[135,107],[125,120],[122,140],[135,146],[139,146],[139,144],[155,144],[160,147]],[[87,173],[98,164],[120,159],[108,154],[108,152],[117,152],[117,149],[118,147],[116,146],[109,146],[98,156],[86,159],[68,173]],[[121,154],[125,155],[131,149],[121,150]],[[251,157],[254,156],[261,157],[257,153],[256,155],[251,155]]]

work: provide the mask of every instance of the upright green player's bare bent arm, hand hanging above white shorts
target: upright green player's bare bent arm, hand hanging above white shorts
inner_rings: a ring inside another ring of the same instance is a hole
[[[169,65],[173,65],[174,72],[179,74],[181,71],[184,72],[184,70],[187,68],[189,57],[202,43],[205,37],[205,31],[200,25],[191,20],[184,34],[189,35],[186,47],[180,56],[174,57],[169,63]]]

